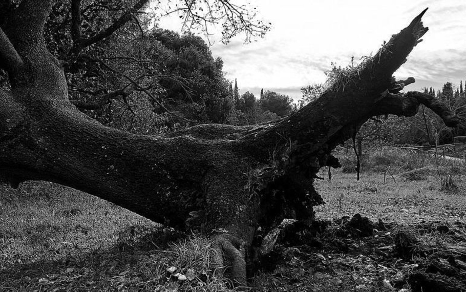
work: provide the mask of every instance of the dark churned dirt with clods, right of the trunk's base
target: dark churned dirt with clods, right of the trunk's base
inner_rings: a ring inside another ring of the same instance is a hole
[[[464,223],[320,221],[264,259],[260,291],[464,291]],[[257,283],[259,284],[259,283]]]

